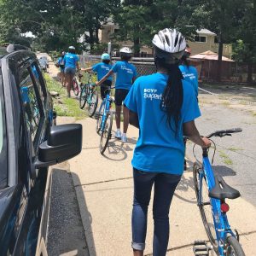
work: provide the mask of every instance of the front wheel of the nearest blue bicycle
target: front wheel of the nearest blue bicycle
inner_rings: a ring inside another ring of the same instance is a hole
[[[202,178],[201,186],[201,203],[199,198],[199,188],[200,188],[200,178],[199,173],[201,171],[201,166],[193,166],[193,177],[194,177],[194,189],[197,200],[197,206],[199,207],[201,213],[201,219],[204,224],[205,230],[207,231],[207,236],[209,241],[212,243],[212,247],[216,253],[218,253],[218,242],[216,237],[216,232],[214,228],[214,221],[212,216],[212,204],[210,197],[208,196],[208,187],[206,177]]]

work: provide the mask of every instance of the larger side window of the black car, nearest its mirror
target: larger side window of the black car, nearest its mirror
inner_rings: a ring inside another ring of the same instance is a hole
[[[28,69],[25,69],[20,74],[20,95],[25,109],[26,128],[32,136],[32,142],[34,142],[38,132],[41,113],[37,92]]]

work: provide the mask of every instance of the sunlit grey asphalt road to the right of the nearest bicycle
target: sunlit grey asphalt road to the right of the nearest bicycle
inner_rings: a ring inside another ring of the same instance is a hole
[[[256,89],[249,86],[203,88],[218,96],[200,96],[202,116],[195,123],[201,134],[235,127],[243,130],[232,137],[213,138],[217,143],[214,169],[256,206]],[[191,148],[188,150],[190,156]],[[197,151],[197,155],[200,157],[201,153]]]

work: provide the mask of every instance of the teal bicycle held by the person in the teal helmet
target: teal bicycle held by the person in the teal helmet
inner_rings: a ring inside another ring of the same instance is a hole
[[[90,117],[96,113],[98,106],[99,96],[96,90],[96,84],[91,83],[91,73],[89,74],[87,84],[80,84],[81,92],[79,96],[79,107],[84,108],[85,104],[88,104],[87,111]]]

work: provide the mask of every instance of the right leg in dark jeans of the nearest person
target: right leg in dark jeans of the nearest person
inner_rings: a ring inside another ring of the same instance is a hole
[[[154,181],[154,241],[153,255],[165,256],[169,241],[169,211],[172,196],[180,181],[180,175],[160,173]]]

